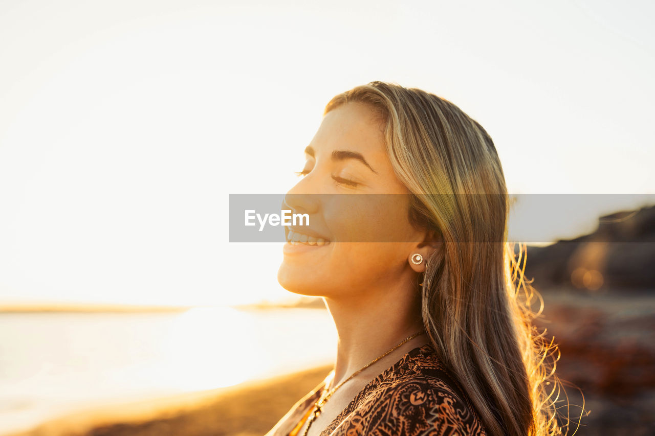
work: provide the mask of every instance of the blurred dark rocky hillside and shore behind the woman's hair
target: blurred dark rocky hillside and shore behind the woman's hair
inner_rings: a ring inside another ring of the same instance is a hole
[[[559,344],[557,374],[582,389],[590,411],[576,434],[655,434],[655,207],[601,217],[595,232],[573,240],[529,246],[525,271],[544,299],[536,324]],[[567,394],[582,405],[574,388]],[[578,422],[580,409],[569,414]]]

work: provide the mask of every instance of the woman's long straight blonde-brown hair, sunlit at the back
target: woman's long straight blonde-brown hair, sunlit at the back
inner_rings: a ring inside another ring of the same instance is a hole
[[[526,250],[517,255],[506,242],[508,194],[491,137],[456,105],[419,89],[371,82],[335,96],[325,113],[350,101],[366,103],[383,123],[394,172],[412,193],[411,223],[443,237],[426,259],[422,321],[487,434],[560,435],[557,346],[532,325]]]

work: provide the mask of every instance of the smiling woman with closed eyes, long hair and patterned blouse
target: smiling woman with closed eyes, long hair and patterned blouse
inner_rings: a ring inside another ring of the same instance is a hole
[[[560,434],[487,132],[371,82],[327,104],[305,154],[285,202],[310,225],[288,230],[278,281],[324,298],[337,359],[268,435]]]

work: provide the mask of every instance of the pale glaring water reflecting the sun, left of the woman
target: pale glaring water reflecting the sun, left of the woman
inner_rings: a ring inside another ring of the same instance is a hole
[[[319,309],[0,314],[0,434],[90,404],[322,365],[335,341]]]

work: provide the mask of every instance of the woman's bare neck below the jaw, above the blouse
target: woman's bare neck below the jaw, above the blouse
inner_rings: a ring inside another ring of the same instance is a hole
[[[407,297],[412,295],[414,298]],[[398,291],[378,289],[365,295],[349,296],[348,299],[326,297],[326,304],[339,338],[333,386],[408,336],[424,330],[419,295],[404,287],[398,287]],[[371,365],[370,373],[379,374],[407,351],[426,341],[426,335],[409,340]]]

